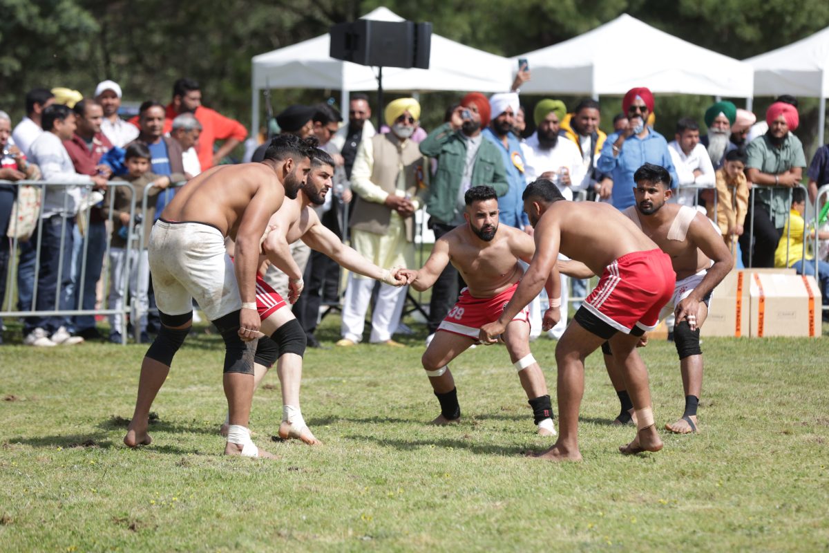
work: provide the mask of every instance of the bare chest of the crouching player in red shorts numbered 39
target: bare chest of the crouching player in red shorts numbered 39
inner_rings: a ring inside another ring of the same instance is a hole
[[[444,239],[449,261],[476,298],[492,297],[518,282],[524,274],[518,260],[529,260],[536,250],[530,236],[506,225],[499,225],[495,237],[483,247],[468,225],[458,226]]]

